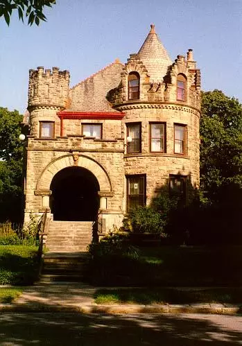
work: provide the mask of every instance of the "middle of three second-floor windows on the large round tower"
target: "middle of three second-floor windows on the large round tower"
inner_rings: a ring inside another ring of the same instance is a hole
[[[165,152],[165,124],[150,123],[150,151]]]

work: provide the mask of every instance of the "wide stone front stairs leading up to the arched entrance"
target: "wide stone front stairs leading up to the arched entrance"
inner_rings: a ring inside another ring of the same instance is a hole
[[[50,221],[40,283],[80,282],[87,268],[92,221]]]

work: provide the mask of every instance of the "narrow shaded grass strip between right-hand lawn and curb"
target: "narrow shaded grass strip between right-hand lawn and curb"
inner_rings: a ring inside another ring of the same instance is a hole
[[[97,304],[191,304],[240,303],[242,288],[119,288],[101,289],[95,295]]]

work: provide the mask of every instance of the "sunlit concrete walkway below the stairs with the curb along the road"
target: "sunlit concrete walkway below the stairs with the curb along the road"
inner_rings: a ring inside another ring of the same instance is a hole
[[[103,288],[103,287],[102,287]],[[98,287],[83,283],[28,286],[12,304],[0,304],[0,311],[69,311],[80,313],[242,313],[242,304],[96,304]],[[242,300],[242,297],[241,297]]]

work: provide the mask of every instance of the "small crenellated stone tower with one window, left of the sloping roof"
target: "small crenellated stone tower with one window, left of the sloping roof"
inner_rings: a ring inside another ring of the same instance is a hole
[[[57,112],[68,107],[69,71],[58,67],[37,67],[29,70],[28,111],[34,137],[50,138],[60,135]]]

